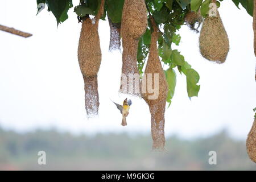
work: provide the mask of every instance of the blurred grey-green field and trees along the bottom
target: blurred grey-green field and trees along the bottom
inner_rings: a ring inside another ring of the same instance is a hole
[[[207,138],[166,139],[167,152],[151,150],[151,135],[71,135],[55,130],[16,133],[0,129],[1,170],[255,170],[245,141],[225,131]],[[46,165],[38,151],[46,151]],[[208,152],[217,152],[217,165]]]

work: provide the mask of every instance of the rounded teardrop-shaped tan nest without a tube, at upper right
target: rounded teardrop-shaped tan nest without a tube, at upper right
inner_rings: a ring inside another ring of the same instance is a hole
[[[200,52],[205,59],[224,63],[229,52],[229,39],[217,11],[217,17],[204,19],[199,38]]]

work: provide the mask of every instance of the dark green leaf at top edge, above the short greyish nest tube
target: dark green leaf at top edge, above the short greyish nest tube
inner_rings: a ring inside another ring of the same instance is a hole
[[[106,11],[113,23],[120,23],[124,0],[105,0]]]

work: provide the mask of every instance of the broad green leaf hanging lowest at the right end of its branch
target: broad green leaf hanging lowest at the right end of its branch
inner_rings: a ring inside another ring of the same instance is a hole
[[[198,96],[198,92],[200,90],[200,85],[197,85],[199,82],[200,76],[199,74],[195,71],[195,69],[189,68],[187,69],[187,92],[188,92],[188,97],[194,97]]]

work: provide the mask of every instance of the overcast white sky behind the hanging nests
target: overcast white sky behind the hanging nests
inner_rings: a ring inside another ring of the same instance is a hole
[[[31,32],[28,39],[0,32],[0,126],[18,131],[55,127],[72,133],[105,131],[150,132],[150,112],[146,103],[131,98],[133,105],[122,127],[121,114],[110,98],[122,102],[118,94],[121,53],[108,52],[109,26],[100,21],[102,63],[98,73],[99,116],[88,121],[84,106],[84,82],[77,61],[81,24],[73,9],[69,19],[56,27],[51,13],[36,15],[36,1],[0,0],[0,24]],[[77,5],[79,1],[73,1]],[[228,129],[244,139],[253,123],[256,107],[253,18],[232,1],[219,9],[229,35],[226,63],[214,64],[201,57],[199,34],[184,26],[180,46],[185,60],[200,74],[199,97],[189,100],[184,76],[177,73],[171,107],[166,110],[166,135],[191,138]]]

